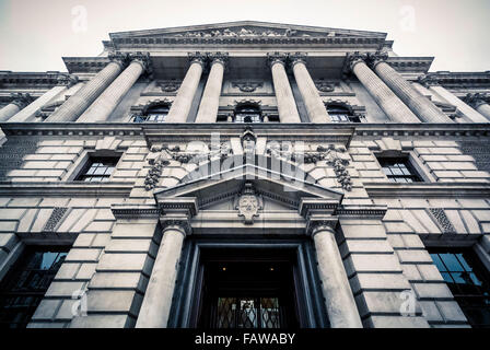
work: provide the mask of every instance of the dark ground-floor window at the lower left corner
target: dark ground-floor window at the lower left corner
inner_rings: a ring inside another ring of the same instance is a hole
[[[26,247],[0,283],[1,328],[27,326],[67,254],[67,247]]]

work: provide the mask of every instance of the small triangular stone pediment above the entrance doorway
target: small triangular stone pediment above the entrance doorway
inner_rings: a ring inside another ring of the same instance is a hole
[[[298,209],[304,198],[317,198],[339,203],[343,197],[341,191],[291,178],[250,164],[160,189],[154,192],[154,196],[156,201],[176,197],[195,197],[199,208],[206,208],[237,196],[243,191],[245,183],[252,184],[257,195],[291,209]]]

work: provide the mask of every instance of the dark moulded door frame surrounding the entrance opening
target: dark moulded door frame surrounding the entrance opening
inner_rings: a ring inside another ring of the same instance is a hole
[[[203,238],[188,236],[185,241],[177,283],[168,318],[168,328],[195,328],[202,285],[201,254],[203,249],[289,249],[295,253],[294,276],[298,280],[296,300],[299,303],[299,323],[302,328],[328,328],[319,278],[316,269],[315,252],[310,237],[298,238]]]

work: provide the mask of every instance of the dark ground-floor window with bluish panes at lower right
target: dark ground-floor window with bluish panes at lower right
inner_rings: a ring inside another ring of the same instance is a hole
[[[490,327],[489,272],[470,249],[430,252],[472,327]]]

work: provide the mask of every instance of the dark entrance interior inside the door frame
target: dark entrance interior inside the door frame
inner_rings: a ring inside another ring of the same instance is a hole
[[[205,249],[196,326],[300,327],[295,260],[288,249]]]

